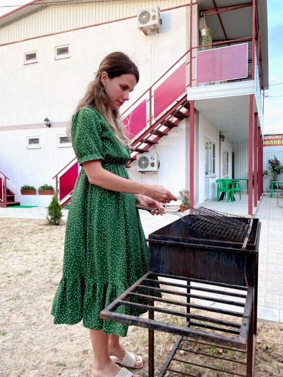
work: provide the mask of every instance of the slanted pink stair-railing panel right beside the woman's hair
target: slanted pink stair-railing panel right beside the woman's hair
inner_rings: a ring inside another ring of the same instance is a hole
[[[130,139],[134,138],[146,127],[146,99],[123,119],[123,123],[126,126],[129,123],[128,136]]]

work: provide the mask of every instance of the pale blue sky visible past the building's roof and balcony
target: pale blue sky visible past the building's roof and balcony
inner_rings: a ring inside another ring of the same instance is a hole
[[[0,16],[30,1],[0,0]],[[267,0],[267,8],[270,86],[265,91],[263,131],[283,133],[283,0]]]

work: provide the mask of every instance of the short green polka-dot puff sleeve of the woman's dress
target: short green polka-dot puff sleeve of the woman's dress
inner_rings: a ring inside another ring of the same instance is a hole
[[[79,164],[104,160],[101,116],[95,108],[81,108],[72,119],[71,139]]]

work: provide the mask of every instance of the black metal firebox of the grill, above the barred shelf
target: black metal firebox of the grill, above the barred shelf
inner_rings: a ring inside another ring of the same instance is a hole
[[[254,287],[258,225],[254,219],[251,241],[243,252],[243,242],[193,238],[190,234],[196,236],[195,231],[188,232],[181,219],[174,221],[149,235],[149,271],[239,286],[247,279]]]

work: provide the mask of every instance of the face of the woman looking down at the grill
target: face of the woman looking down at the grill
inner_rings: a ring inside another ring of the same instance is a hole
[[[101,75],[101,81],[105,85],[105,91],[110,99],[112,110],[118,110],[125,101],[129,100],[129,93],[137,84],[136,76],[127,73],[110,79],[106,72]]]

